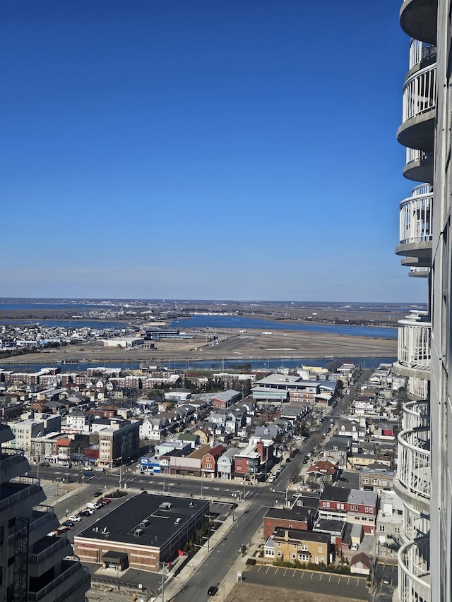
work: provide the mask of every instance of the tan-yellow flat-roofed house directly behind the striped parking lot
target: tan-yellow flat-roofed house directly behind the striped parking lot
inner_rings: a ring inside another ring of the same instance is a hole
[[[323,533],[277,527],[263,548],[267,560],[328,565],[330,538]]]

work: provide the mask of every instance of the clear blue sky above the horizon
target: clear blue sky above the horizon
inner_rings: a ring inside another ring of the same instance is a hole
[[[1,296],[426,301],[393,0],[4,0]]]

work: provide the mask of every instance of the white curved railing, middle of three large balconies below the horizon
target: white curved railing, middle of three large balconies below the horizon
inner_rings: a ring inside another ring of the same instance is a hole
[[[429,500],[431,487],[429,428],[408,428],[398,433],[397,439],[398,480],[414,497]]]

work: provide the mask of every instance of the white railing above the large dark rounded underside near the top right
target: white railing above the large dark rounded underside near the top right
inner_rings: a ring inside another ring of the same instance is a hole
[[[403,86],[403,123],[435,108],[436,64],[413,73]]]

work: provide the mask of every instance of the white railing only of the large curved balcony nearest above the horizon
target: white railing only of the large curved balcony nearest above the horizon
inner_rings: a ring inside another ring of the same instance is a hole
[[[400,203],[400,244],[432,241],[433,187],[421,184]]]

